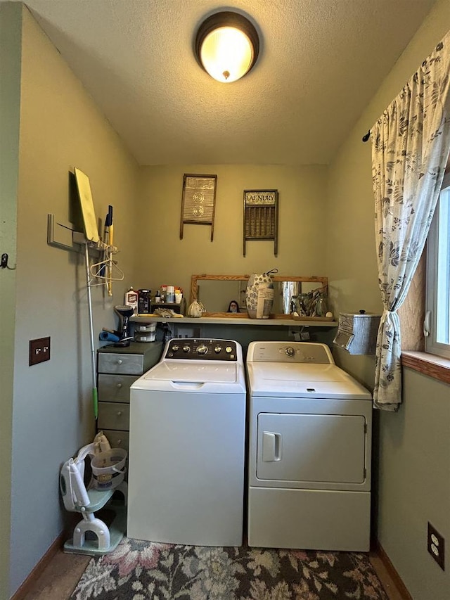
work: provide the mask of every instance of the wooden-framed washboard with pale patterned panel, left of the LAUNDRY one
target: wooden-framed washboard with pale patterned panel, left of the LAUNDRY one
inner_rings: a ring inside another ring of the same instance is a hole
[[[180,239],[183,239],[185,223],[211,225],[211,241],[214,237],[214,210],[216,205],[217,175],[183,176],[181,198]]]

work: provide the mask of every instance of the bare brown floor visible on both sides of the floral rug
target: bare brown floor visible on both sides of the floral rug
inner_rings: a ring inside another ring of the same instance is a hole
[[[405,600],[376,552],[370,553],[373,568],[390,600]],[[90,556],[58,551],[32,587],[20,600],[68,600],[89,563]]]

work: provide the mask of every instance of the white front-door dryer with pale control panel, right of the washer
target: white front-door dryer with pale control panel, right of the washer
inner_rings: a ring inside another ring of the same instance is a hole
[[[371,394],[324,344],[252,342],[248,544],[368,551]]]

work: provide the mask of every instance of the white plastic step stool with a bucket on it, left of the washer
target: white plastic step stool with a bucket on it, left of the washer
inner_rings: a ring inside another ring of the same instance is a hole
[[[84,459],[91,457],[93,475],[84,484]],[[124,481],[127,452],[111,449],[108,439],[99,432],[94,442],[82,447],[75,459],[65,461],[60,471],[60,490],[65,509],[82,514],[75,526],[73,537],[64,544],[64,551],[72,554],[98,556],[113,551],[124,536],[127,525],[127,483]],[[113,494],[122,492],[123,502],[113,500]],[[94,513],[108,504],[114,514],[108,525]]]

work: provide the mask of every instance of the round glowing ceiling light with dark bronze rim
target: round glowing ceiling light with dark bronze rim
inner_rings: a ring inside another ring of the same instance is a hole
[[[195,36],[195,58],[211,77],[222,83],[240,79],[255,65],[259,37],[248,18],[238,13],[215,13],[203,21]]]

